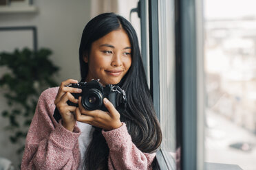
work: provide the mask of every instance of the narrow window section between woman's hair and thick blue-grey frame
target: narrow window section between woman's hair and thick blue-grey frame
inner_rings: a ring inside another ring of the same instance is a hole
[[[174,1],[148,5],[150,86],[163,134],[157,158],[161,169],[176,169]]]

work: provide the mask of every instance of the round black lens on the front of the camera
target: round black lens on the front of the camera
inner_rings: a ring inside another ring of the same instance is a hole
[[[103,105],[103,94],[96,88],[91,88],[82,97],[82,105],[86,110],[96,110]]]

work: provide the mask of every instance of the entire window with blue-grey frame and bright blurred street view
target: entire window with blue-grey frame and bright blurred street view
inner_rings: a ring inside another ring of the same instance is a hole
[[[254,6],[253,0],[149,1],[162,169],[255,169]]]

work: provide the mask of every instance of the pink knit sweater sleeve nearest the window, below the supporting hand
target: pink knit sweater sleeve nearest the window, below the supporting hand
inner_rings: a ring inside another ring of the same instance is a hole
[[[116,130],[103,131],[109,146],[109,169],[151,169],[156,153],[143,153],[131,141],[125,123]]]

